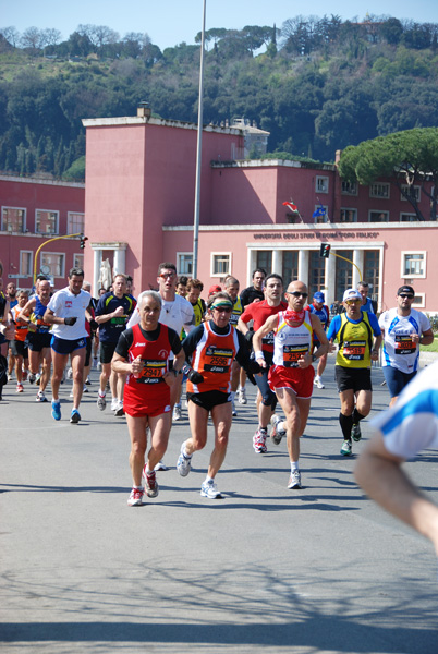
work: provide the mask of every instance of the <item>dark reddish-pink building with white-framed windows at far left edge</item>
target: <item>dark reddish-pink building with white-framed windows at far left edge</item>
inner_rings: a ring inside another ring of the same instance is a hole
[[[34,269],[52,278],[58,290],[66,286],[70,268],[83,266],[78,238],[84,231],[85,185],[46,179],[0,175],[0,261],[3,284],[14,280],[31,289]],[[58,237],[68,237],[58,239]],[[39,252],[42,243],[49,239]]]

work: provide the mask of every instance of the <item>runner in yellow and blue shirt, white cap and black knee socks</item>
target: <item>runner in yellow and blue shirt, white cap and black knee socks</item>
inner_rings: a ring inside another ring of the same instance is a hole
[[[343,294],[345,313],[336,316],[327,338],[338,340],[334,374],[341,400],[339,424],[343,434],[341,455],[351,457],[352,438],[361,440],[360,421],[372,410],[372,361],[379,358],[381,331],[374,314],[362,312],[362,295],[355,289]],[[330,351],[334,351],[332,344]],[[354,405],[354,400],[356,405]]]

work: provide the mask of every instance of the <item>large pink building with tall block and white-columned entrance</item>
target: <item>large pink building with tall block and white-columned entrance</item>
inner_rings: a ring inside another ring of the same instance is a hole
[[[84,124],[85,265],[94,269],[95,289],[105,258],[133,275],[136,292],[156,284],[162,261],[191,275],[196,125],[141,116]],[[297,278],[311,292],[323,290],[331,303],[362,277],[381,310],[411,283],[415,305],[438,312],[431,270],[438,225],[414,222],[393,180],[357,186],[343,183],[334,165],[238,160],[242,148],[240,130],[204,130],[197,276],[206,287],[232,274],[243,288],[264,267],[287,283]],[[428,216],[428,198],[415,191]],[[327,259],[319,256],[324,242],[331,245]]]

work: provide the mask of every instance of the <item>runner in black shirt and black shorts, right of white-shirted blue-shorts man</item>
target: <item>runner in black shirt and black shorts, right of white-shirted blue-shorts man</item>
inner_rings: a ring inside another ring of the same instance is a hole
[[[112,291],[99,298],[96,306],[96,323],[99,326],[100,340],[100,387],[97,395],[97,407],[105,411],[107,407],[106,387],[109,379],[111,388],[111,411],[122,416],[123,387],[125,375],[111,371],[111,360],[119,342],[120,335],[126,329],[126,323],[135,308],[136,302],[126,291],[126,276],[115,275]]]

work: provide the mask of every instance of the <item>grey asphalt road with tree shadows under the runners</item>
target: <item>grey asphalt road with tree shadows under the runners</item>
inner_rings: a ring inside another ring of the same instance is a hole
[[[340,456],[330,361],[302,439],[304,488],[288,491],[285,443],[256,455],[254,390],[234,420],[217,481],[200,497],[211,438],[191,474],[175,471],[186,411],[171,433],[160,494],[126,505],[124,419],[96,402],[97,373],[70,425],[4,388],[0,643],[7,653],[437,654],[431,546],[364,497]],[[388,404],[373,371],[373,413]],[[373,415],[372,413],[372,415]],[[363,424],[364,439],[370,434]],[[210,433],[210,436],[212,434]],[[354,444],[357,455],[363,443]],[[437,452],[407,464],[438,501]]]

